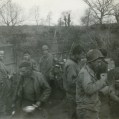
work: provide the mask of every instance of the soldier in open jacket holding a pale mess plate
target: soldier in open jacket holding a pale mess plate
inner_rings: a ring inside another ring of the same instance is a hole
[[[15,101],[19,101],[23,118],[39,118],[39,108],[47,101],[51,89],[40,72],[34,71],[29,62],[20,65],[20,80],[17,87]],[[26,106],[37,107],[32,114],[26,114],[22,109]],[[30,117],[29,117],[30,116]],[[40,115],[41,116],[41,115]]]

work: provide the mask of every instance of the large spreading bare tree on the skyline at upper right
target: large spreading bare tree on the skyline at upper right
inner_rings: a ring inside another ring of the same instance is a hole
[[[83,0],[92,10],[93,16],[102,25],[106,16],[113,11],[113,0]]]

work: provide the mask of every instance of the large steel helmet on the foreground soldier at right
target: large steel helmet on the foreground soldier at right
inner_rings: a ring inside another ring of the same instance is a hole
[[[99,58],[104,58],[100,50],[98,49],[92,49],[89,50],[87,53],[87,62],[93,62]]]

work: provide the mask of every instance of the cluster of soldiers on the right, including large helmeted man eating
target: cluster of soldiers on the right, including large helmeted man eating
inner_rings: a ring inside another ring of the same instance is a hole
[[[83,50],[76,46],[66,61],[64,87],[72,109],[67,119],[119,118],[119,68],[114,64],[110,67],[104,51],[89,50],[82,67]]]

